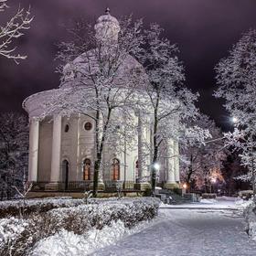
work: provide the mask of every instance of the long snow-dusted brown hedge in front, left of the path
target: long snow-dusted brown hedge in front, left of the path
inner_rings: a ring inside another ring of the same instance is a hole
[[[14,219],[0,222],[2,237],[0,255],[25,255],[31,251],[37,241],[58,234],[63,229],[74,234],[85,234],[91,229],[103,229],[117,221],[122,221],[125,228],[132,228],[138,222],[153,219],[157,214],[160,201],[156,198],[123,198],[91,200],[89,205],[69,208],[54,208],[48,212],[35,213],[29,219]],[[15,223],[21,223],[18,232],[6,235]],[[19,222],[21,221],[21,222]],[[24,221],[24,222],[22,222]],[[2,225],[2,226],[1,226]],[[8,228],[6,228],[6,226]],[[9,228],[10,226],[10,228]]]

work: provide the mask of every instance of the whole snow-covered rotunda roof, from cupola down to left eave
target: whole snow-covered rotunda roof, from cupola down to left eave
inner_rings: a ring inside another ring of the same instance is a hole
[[[118,20],[110,15],[110,10],[107,8],[106,13],[100,16],[95,24],[96,37],[115,37],[120,31],[120,25]],[[77,86],[90,86],[91,80],[86,80],[86,74],[91,77],[93,72],[99,70],[99,59],[96,58],[96,49],[91,49],[82,53],[79,57],[69,62],[63,69],[64,80],[59,85],[59,89],[50,91],[40,91],[23,101],[23,108],[29,113],[29,117],[38,117],[45,110],[42,108],[42,103],[50,101],[53,94],[60,94],[61,90],[69,90]],[[133,58],[131,55],[124,55],[122,64],[117,70],[117,74],[113,76],[114,84],[118,84],[119,87],[129,87],[129,80],[133,71],[139,70],[144,73],[143,66]],[[80,80],[80,76],[82,80]],[[134,74],[133,74],[134,75]],[[140,84],[137,85],[141,87]]]

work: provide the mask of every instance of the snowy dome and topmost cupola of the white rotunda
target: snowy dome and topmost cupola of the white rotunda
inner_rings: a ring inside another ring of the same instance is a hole
[[[94,26],[96,35],[95,37],[101,41],[102,53],[101,55],[109,55],[112,46],[118,42],[118,33],[120,26],[118,20],[110,15],[110,9],[107,8],[104,15],[100,16]],[[106,53],[104,52],[106,47]],[[111,47],[108,47],[111,46]],[[63,81],[60,85],[62,88],[69,88],[80,85],[80,78],[83,77],[82,84],[90,85],[90,78],[93,73],[97,73],[100,69],[99,53],[97,49],[91,49],[82,53],[79,57],[69,62],[63,69]],[[129,80],[134,70],[144,73],[143,66],[133,58],[131,55],[123,56],[122,63],[116,70],[114,75],[116,82],[118,80]]]

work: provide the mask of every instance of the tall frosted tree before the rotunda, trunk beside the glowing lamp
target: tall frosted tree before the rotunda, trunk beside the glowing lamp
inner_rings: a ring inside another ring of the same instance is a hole
[[[144,63],[148,82],[145,91],[149,98],[149,114],[153,124],[152,189],[155,190],[155,164],[159,161],[159,148],[169,139],[177,140],[178,123],[197,115],[193,94],[183,84],[184,68],[177,58],[178,48],[162,37],[163,29],[152,24],[145,30]]]

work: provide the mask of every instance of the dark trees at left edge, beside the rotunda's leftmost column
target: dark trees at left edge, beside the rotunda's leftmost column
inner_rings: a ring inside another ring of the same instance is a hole
[[[16,112],[0,114],[0,183],[1,198],[10,198],[12,187],[20,189],[27,178],[27,118]]]

